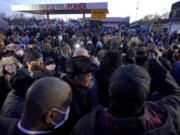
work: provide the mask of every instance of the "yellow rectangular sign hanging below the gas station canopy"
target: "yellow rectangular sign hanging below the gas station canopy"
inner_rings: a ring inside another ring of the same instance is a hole
[[[106,19],[106,10],[91,10],[91,18]]]

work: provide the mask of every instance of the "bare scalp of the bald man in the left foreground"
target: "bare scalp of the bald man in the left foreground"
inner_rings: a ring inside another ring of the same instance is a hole
[[[25,110],[28,113],[44,113],[52,108],[66,108],[70,102],[70,86],[58,78],[45,77],[37,80],[28,89]]]

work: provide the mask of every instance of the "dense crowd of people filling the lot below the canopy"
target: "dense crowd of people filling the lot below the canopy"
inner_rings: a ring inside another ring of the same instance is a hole
[[[0,134],[180,134],[180,35],[128,28],[0,34]]]

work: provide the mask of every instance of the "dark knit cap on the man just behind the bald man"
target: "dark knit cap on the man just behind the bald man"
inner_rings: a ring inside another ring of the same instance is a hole
[[[38,52],[36,49],[28,48],[25,50],[24,62],[34,61],[41,57],[43,57],[42,54]]]

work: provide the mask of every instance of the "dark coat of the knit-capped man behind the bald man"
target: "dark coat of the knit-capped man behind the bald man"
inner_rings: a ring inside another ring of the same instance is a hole
[[[9,83],[12,90],[5,99],[0,116],[20,118],[28,88],[35,80],[46,76],[52,76],[52,73],[45,69],[33,73],[30,73],[28,69],[25,68],[18,69],[10,79]]]

